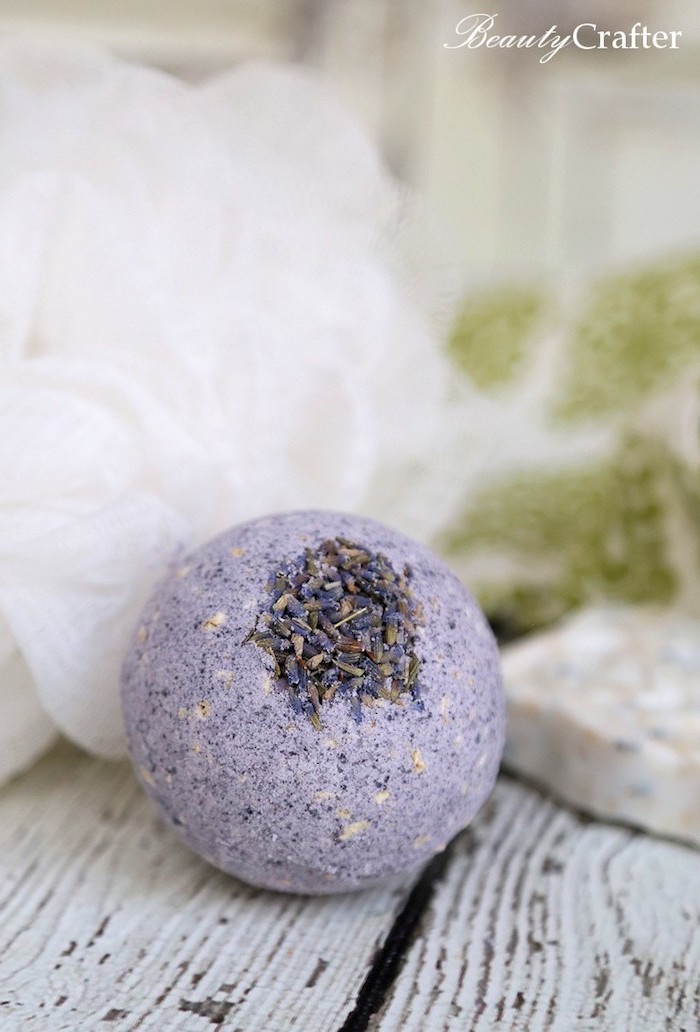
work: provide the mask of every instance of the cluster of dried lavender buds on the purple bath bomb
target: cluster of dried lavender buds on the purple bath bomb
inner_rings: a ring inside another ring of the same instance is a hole
[[[328,539],[273,572],[268,605],[243,644],[273,655],[300,704],[294,710],[316,716],[319,731],[322,704],[333,698],[349,700],[357,721],[362,719],[358,700],[365,706],[378,699],[414,702],[421,618],[410,581],[408,566],[397,572],[381,552],[347,538]],[[310,613],[318,613],[313,624]],[[268,626],[277,638],[265,636]],[[390,647],[384,650],[382,642]]]

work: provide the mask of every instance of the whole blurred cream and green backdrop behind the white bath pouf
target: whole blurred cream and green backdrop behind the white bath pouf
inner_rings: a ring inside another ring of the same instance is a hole
[[[0,27],[191,83],[248,58],[317,69],[458,269],[445,347],[479,433],[438,547],[504,635],[600,600],[698,612],[696,0],[486,6],[502,32],[642,22],[682,43],[545,65],[447,50],[475,9],[462,0],[2,0]]]

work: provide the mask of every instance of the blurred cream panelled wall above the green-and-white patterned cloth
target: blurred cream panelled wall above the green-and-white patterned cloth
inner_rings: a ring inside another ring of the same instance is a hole
[[[563,278],[700,235],[694,0],[500,0],[499,30],[682,31],[678,51],[445,51],[464,0],[2,0],[0,26],[79,34],[198,79],[245,58],[322,70],[394,171],[451,226],[466,270]]]

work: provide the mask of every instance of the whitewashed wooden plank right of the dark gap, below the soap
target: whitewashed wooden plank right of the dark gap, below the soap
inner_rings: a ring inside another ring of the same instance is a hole
[[[375,1025],[696,1032],[700,853],[502,778]]]

